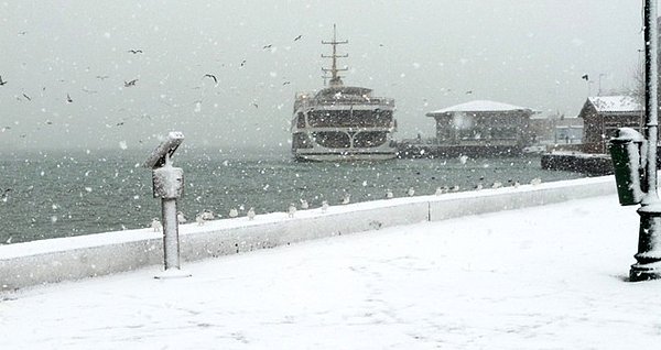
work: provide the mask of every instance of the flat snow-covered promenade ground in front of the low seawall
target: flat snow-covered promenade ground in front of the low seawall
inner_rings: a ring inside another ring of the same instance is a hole
[[[655,349],[635,207],[595,197],[1,294],[2,349]]]

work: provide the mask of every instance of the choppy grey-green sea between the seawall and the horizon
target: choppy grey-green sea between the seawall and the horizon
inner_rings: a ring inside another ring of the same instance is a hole
[[[149,227],[160,217],[152,196],[151,171],[141,166],[149,150],[21,151],[0,154],[0,243]],[[395,197],[429,195],[440,186],[474,190],[495,182],[511,186],[539,177],[543,182],[584,177],[544,171],[539,156],[392,160],[367,163],[296,163],[289,154],[223,153],[183,150],[174,165],[184,171],[178,209],[189,219],[203,210],[226,218],[284,211],[305,199],[339,205],[376,200],[391,189]]]

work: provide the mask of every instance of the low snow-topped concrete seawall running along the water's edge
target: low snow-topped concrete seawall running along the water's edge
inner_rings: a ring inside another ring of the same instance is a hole
[[[186,261],[295,242],[615,194],[613,176],[444,194],[180,226]],[[0,245],[0,291],[162,265],[160,232],[127,230]]]

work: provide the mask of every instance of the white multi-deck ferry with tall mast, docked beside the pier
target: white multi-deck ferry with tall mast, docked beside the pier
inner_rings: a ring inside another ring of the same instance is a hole
[[[292,118],[292,153],[296,161],[381,161],[397,156],[392,133],[397,130],[393,118],[394,100],[373,97],[371,89],[345,86],[337,68],[335,26],[328,87],[321,91],[296,94]]]

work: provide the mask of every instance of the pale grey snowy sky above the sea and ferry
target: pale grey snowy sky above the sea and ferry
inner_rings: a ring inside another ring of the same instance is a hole
[[[286,152],[295,92],[323,87],[333,23],[349,41],[345,84],[395,99],[397,139],[432,135],[425,112],[475,99],[575,116],[599,76],[604,94],[633,84],[641,4],[4,1],[0,146],[151,149],[181,130],[188,146]]]

